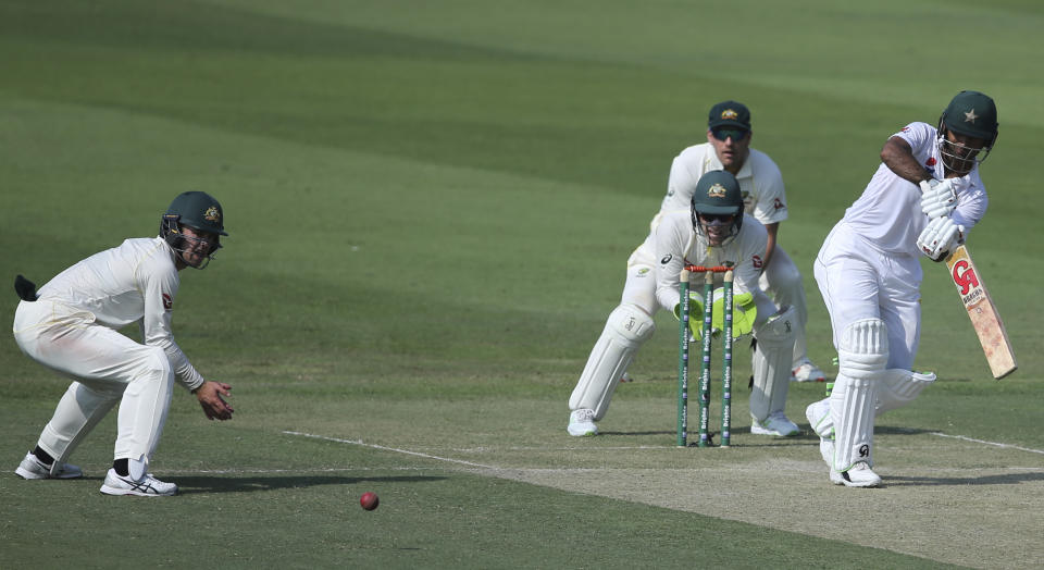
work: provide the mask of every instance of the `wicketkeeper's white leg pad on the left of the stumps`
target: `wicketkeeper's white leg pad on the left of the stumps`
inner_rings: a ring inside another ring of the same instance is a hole
[[[594,410],[595,420],[600,420],[620,376],[655,331],[652,318],[637,307],[621,305],[613,309],[569,398],[569,409]]]

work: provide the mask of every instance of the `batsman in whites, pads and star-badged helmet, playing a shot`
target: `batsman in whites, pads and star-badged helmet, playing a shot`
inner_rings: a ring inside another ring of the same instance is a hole
[[[942,261],[986,212],[979,177],[997,139],[997,108],[961,91],[939,126],[910,123],[884,144],[881,165],[816,259],[840,371],[806,417],[820,436],[830,481],[874,487],[874,417],[934,382],[911,372],[921,334],[920,256]]]

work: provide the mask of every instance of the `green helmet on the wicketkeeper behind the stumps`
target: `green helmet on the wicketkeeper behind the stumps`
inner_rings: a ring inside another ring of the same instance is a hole
[[[714,170],[700,176],[689,202],[693,228],[710,245],[722,246],[739,235],[743,226],[743,193],[729,171]]]

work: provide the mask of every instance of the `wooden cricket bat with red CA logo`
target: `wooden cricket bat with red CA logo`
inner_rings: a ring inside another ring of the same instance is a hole
[[[990,298],[986,284],[982,282],[982,275],[971,261],[968,248],[958,246],[946,258],[946,267],[949,268],[949,276],[957,286],[971,325],[979,335],[979,343],[982,344],[982,351],[986,355],[993,377],[1000,380],[1015,372],[1019,364],[1015,361],[1008,333],[1004,330],[997,307]]]

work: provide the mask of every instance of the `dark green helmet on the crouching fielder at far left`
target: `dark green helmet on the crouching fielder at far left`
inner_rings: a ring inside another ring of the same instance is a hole
[[[186,191],[174,198],[166,213],[160,219],[160,237],[177,253],[185,264],[196,269],[203,269],[213,259],[221,248],[219,236],[227,236],[224,226],[224,212],[221,203],[213,196],[204,191]],[[182,228],[189,227],[196,232],[213,234],[214,238],[202,239],[188,236]],[[192,263],[185,257],[186,246],[190,243],[206,241],[210,245],[208,255],[199,262]]]

